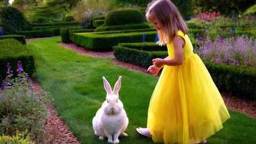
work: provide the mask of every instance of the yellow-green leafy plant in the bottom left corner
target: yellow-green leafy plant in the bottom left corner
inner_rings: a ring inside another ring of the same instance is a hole
[[[0,143],[8,143],[8,144],[35,144],[35,142],[30,140],[30,136],[27,134],[27,130],[21,131],[19,133],[16,132],[15,135],[2,135],[0,136]]]

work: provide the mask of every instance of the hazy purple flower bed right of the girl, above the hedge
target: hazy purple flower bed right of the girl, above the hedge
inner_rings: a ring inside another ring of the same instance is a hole
[[[253,37],[246,35],[222,38],[217,37],[214,42],[207,36],[206,39],[197,38],[199,47],[197,53],[205,61],[225,63],[230,65],[242,65],[254,69],[256,64],[256,45]]]

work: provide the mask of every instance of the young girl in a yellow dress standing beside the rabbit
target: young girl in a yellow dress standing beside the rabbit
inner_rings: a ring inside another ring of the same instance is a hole
[[[206,143],[230,118],[224,101],[200,57],[193,52],[188,28],[170,0],[148,5],[147,20],[158,30],[168,57],[153,59],[149,73],[161,76],[148,109],[147,128],[138,133],[154,142]]]

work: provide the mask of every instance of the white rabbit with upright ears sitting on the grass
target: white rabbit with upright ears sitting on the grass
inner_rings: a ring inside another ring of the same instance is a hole
[[[104,76],[102,79],[107,97],[92,119],[92,126],[98,139],[103,140],[104,137],[108,137],[108,142],[119,143],[118,137],[120,135],[128,136],[124,131],[129,123],[123,103],[118,95],[121,87],[121,76],[115,83],[113,91]]]

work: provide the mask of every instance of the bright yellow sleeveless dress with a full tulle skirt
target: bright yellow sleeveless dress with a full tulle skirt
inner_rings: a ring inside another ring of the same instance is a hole
[[[185,40],[184,61],[163,68],[150,99],[147,127],[154,142],[195,143],[222,129],[230,116],[188,35],[182,31],[177,35]],[[173,44],[167,49],[173,58]]]

